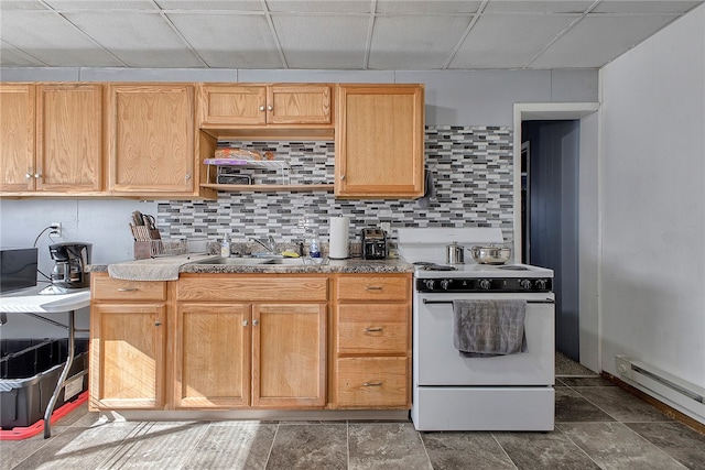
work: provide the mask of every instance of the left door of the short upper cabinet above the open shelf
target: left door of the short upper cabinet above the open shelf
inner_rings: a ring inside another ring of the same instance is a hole
[[[267,123],[267,87],[204,84],[199,86],[198,125]]]

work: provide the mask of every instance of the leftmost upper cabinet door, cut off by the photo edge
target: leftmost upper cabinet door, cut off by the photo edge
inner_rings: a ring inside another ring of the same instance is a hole
[[[0,84],[0,190],[34,189],[35,87]]]

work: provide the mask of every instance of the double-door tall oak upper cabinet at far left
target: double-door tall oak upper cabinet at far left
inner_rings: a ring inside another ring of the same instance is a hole
[[[0,86],[3,194],[99,194],[102,86]]]

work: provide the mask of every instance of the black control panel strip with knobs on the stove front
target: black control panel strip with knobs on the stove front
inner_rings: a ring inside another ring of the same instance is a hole
[[[546,277],[478,277],[478,278],[421,278],[417,292],[475,293],[475,292],[551,292],[553,280]]]

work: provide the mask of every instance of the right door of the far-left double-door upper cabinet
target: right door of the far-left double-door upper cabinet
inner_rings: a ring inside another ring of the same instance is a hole
[[[37,86],[36,189],[99,192],[102,177],[102,87]]]

